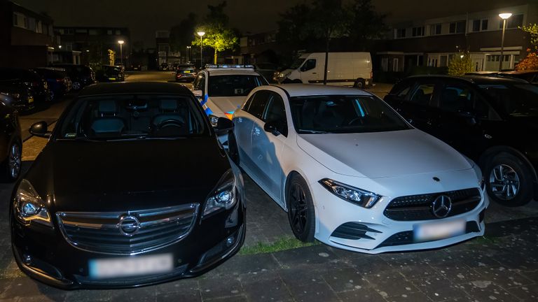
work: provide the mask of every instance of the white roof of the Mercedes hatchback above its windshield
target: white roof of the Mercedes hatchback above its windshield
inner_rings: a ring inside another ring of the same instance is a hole
[[[313,85],[313,84],[281,84],[275,85],[284,89],[289,96],[314,96],[314,95],[372,95],[370,92],[364,90],[352,88],[352,87],[338,87],[330,85]]]

